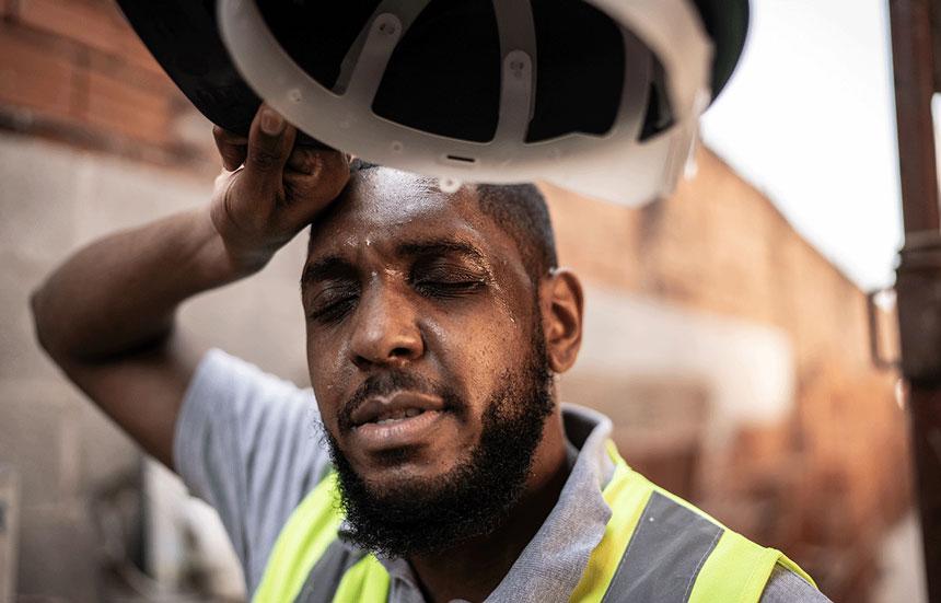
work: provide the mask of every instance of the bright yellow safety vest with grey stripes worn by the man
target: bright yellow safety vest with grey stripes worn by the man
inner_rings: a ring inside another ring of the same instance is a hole
[[[607,451],[615,472],[602,495],[612,515],[570,602],[758,603],[776,564],[814,583],[779,550],[732,532],[631,469],[611,441]],[[253,603],[290,603],[302,594],[337,540],[336,480],[335,473],[324,478],[288,519]],[[382,603],[388,587],[388,572],[367,554],[340,569],[333,601]]]

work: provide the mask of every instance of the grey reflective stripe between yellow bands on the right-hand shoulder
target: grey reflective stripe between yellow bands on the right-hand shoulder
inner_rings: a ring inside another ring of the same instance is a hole
[[[654,491],[603,601],[685,603],[721,526]]]

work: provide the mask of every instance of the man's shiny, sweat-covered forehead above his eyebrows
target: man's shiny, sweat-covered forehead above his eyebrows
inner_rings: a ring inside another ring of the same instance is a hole
[[[374,167],[358,173],[344,196],[313,223],[309,258],[393,251],[415,240],[456,240],[486,255],[516,254],[509,237],[481,214],[475,193],[442,193],[437,182]]]

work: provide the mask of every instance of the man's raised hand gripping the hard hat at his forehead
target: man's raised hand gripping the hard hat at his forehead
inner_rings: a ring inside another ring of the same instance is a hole
[[[340,194],[349,161],[294,147],[294,127],[265,104],[247,138],[218,126],[212,134],[228,170],[216,178],[212,224],[234,267],[255,271]]]

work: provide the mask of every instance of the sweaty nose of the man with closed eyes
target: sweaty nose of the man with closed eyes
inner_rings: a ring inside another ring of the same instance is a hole
[[[361,370],[403,367],[425,353],[418,313],[405,293],[376,285],[362,292],[353,318],[350,360]]]

